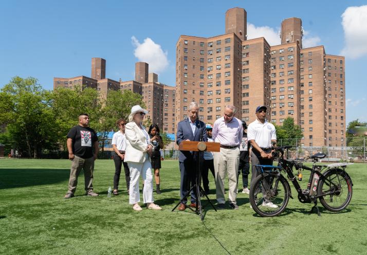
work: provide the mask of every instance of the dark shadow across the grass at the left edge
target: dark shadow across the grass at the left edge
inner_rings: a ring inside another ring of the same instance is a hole
[[[0,190],[56,184],[69,176],[70,169],[1,169]]]

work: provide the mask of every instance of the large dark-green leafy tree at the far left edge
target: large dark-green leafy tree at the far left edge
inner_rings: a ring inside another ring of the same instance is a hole
[[[30,157],[57,148],[51,93],[35,78],[14,77],[1,89],[0,124],[7,126],[14,148]]]

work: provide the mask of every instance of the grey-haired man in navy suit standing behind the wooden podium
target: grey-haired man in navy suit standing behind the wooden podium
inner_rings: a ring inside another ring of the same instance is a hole
[[[189,117],[178,122],[176,143],[179,145],[182,141],[208,141],[205,123],[199,120],[199,105],[191,102],[188,107]],[[185,196],[195,183],[196,160],[198,152],[180,151],[178,156],[179,168],[181,172],[180,196],[182,203],[178,210],[186,209],[187,197]],[[201,162],[204,161],[203,153],[200,154]],[[191,192],[191,207],[196,207],[196,194]]]

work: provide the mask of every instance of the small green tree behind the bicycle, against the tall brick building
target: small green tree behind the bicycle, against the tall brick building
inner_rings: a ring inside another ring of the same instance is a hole
[[[281,145],[280,141],[282,139],[282,145],[296,146],[303,137],[301,127],[295,124],[295,120],[291,117],[287,117],[283,121],[283,125],[275,125],[275,127],[278,145]]]

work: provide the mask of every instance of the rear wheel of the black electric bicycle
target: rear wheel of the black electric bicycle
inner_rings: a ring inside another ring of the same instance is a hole
[[[328,170],[325,179],[320,179],[318,195],[322,206],[332,212],[339,212],[346,208],[352,199],[352,181],[341,169]]]

